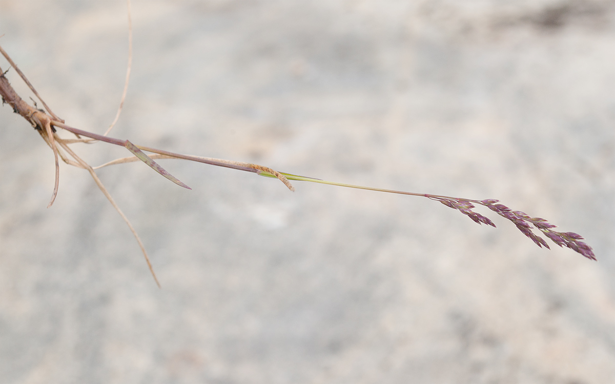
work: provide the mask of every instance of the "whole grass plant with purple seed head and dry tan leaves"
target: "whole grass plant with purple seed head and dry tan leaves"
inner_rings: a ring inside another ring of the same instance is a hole
[[[146,252],[145,246],[143,242],[139,238],[137,231],[133,228],[132,224],[128,220],[128,218],[124,215],[122,210],[117,206],[116,202],[111,197],[111,194],[106,190],[105,186],[101,182],[100,178],[98,178],[95,170],[100,169],[101,167],[111,166],[114,164],[121,164],[125,162],[133,162],[133,161],[142,161],[145,162],[149,167],[156,170],[159,174],[168,178],[173,183],[180,185],[184,188],[191,189],[188,185],[178,180],[173,175],[169,174],[164,168],[162,168],[159,164],[157,164],[154,159],[183,159],[188,161],[196,161],[202,162],[204,164],[210,164],[212,166],[220,166],[227,167],[237,170],[243,170],[246,172],[253,172],[255,174],[264,176],[277,178],[280,182],[284,183],[285,186],[291,191],[294,191],[295,188],[290,183],[290,181],[301,181],[301,182],[312,182],[312,183],[320,183],[327,184],[333,186],[343,186],[346,188],[357,188],[361,190],[370,190],[370,191],[378,191],[384,193],[397,193],[397,194],[406,194],[410,196],[422,196],[424,198],[428,198],[434,201],[439,201],[447,207],[458,210],[461,214],[466,215],[471,220],[478,224],[486,224],[495,227],[496,225],[487,217],[474,212],[472,208],[477,205],[485,206],[490,210],[493,210],[496,214],[501,217],[510,220],[510,222],[514,223],[517,226],[518,230],[520,230],[525,236],[530,238],[536,245],[539,247],[546,247],[549,249],[549,245],[546,240],[536,234],[534,231],[538,231],[538,233],[542,233],[544,236],[549,238],[551,241],[555,242],[560,247],[568,247],[569,249],[578,252],[579,254],[587,257],[591,260],[596,260],[595,254],[593,253],[592,247],[587,245],[585,242],[581,241],[583,238],[577,233],[574,232],[559,232],[555,231],[555,225],[547,222],[544,218],[539,217],[531,217],[530,215],[525,214],[519,210],[511,210],[509,207],[504,206],[503,204],[499,204],[499,200],[496,199],[484,199],[484,200],[475,200],[475,199],[466,199],[466,198],[453,198],[450,196],[440,196],[429,193],[414,193],[414,192],[405,192],[405,191],[395,191],[395,190],[387,190],[383,188],[372,188],[368,186],[359,186],[359,185],[351,185],[344,184],[338,182],[329,182],[326,180],[321,180],[319,178],[312,177],[304,177],[294,174],[288,174],[285,172],[279,172],[277,170],[271,169],[269,167],[261,166],[259,164],[252,164],[247,162],[238,162],[238,161],[229,161],[225,159],[215,159],[215,158],[205,158],[202,156],[192,156],[188,154],[181,153],[173,153],[170,151],[159,150],[157,148],[150,148],[148,146],[135,145],[129,140],[121,140],[118,138],[109,137],[108,134],[113,129],[117,120],[119,119],[120,113],[122,111],[122,106],[124,105],[124,100],[126,97],[126,90],[129,84],[130,79],[130,68],[132,62],[132,26],[130,21],[130,2],[129,5],[129,63],[127,66],[126,79],[124,84],[124,92],[122,92],[122,98],[120,102],[120,106],[117,110],[117,114],[114,118],[114,121],[108,127],[106,132],[103,135],[95,134],[93,132],[87,132],[85,130],[77,129],[75,127],[68,126],[65,124],[63,119],[60,119],[53,111],[49,108],[47,103],[41,98],[41,96],[36,92],[36,89],[32,86],[30,81],[26,78],[25,74],[19,70],[18,66],[11,60],[9,55],[0,47],[0,52],[9,62],[10,66],[14,68],[14,70],[19,74],[20,78],[30,87],[33,94],[40,100],[44,109],[39,109],[34,102],[34,106],[26,103],[18,94],[15,92],[13,87],[10,85],[9,80],[6,77],[7,71],[3,71],[0,68],[0,94],[2,95],[2,103],[8,103],[12,106],[15,113],[20,114],[25,118],[28,122],[30,122],[31,126],[34,127],[41,135],[42,139],[45,140],[47,145],[50,146],[52,151],[54,152],[55,158],[55,183],[54,183],[54,191],[52,192],[52,197],[49,201],[49,205],[47,207],[52,206],[54,204],[55,196],[58,193],[58,186],[60,180],[60,165],[59,159],[62,159],[63,162],[69,164],[71,166],[79,167],[85,169],[92,176],[94,182],[98,185],[98,188],[105,194],[105,197],[111,202],[111,205],[114,209],[117,210],[119,215],[121,215],[124,222],[129,226],[130,231],[132,232],[135,239],[141,248],[141,252],[145,257],[146,263],[148,264],[149,271],[151,272],[154,281],[156,284],[160,286],[158,279],[156,278],[156,273],[154,273],[151,262],[149,261],[148,254]],[[66,130],[71,132],[75,138],[62,138],[58,135],[57,129]],[[124,146],[128,151],[132,153],[133,156],[115,159],[110,162],[106,162],[105,164],[101,164],[97,167],[92,167],[87,162],[85,162],[81,157],[79,157],[71,148],[71,145],[77,143],[93,143],[93,142],[105,142],[113,145]],[[146,154],[150,153],[150,154]]]

